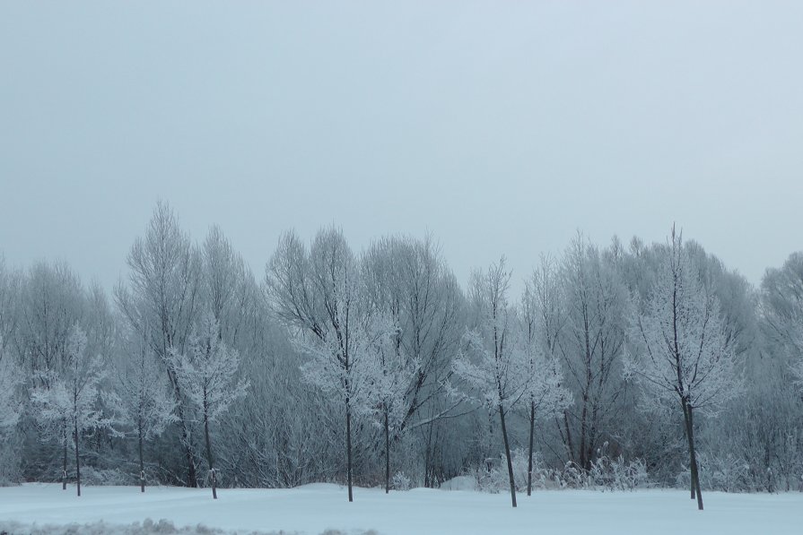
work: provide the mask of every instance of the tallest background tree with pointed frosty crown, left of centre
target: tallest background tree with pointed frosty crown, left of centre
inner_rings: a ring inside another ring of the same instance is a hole
[[[186,349],[201,304],[201,255],[179,228],[166,203],[153,211],[144,237],[136,239],[127,258],[128,284],[115,292],[128,326],[147,341],[160,359],[176,402],[179,447],[185,458],[188,487],[197,487],[192,444],[192,418],[170,358],[170,350]]]

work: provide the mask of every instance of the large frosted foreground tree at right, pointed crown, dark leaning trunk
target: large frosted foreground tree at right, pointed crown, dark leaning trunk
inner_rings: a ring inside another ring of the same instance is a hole
[[[672,234],[650,297],[634,313],[625,377],[642,386],[653,410],[680,406],[689,450],[692,498],[703,509],[694,449],[694,414],[716,415],[739,393],[732,341],[718,299],[705,288],[682,236]]]

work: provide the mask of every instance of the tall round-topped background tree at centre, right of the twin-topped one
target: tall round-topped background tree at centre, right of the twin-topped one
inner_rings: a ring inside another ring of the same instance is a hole
[[[391,236],[372,243],[362,255],[362,286],[371,306],[397,324],[397,349],[405,369],[415,369],[407,374],[406,408],[395,438],[415,432],[422,439],[413,443],[413,454],[423,457],[424,485],[437,486],[444,475],[438,451],[457,449],[438,436],[460,415],[459,401],[447,397],[444,385],[463,329],[465,299],[431,237]]]

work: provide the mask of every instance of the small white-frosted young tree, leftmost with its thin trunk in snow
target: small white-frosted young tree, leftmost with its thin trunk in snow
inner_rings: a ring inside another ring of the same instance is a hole
[[[48,374],[48,386],[39,386],[31,392],[36,418],[48,431],[47,435],[64,447],[65,472],[66,444],[68,435],[72,435],[78,496],[81,496],[81,438],[88,431],[109,427],[110,423],[100,410],[103,362],[100,356],[88,354],[86,348],[86,334],[75,325],[67,341],[64,375]]]

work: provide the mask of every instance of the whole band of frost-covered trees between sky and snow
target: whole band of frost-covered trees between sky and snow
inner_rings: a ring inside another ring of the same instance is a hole
[[[429,237],[336,228],[255,274],[160,203],[112,295],[0,262],[0,480],[799,489],[803,255],[755,289],[668,234],[462,288]]]

